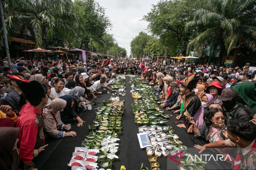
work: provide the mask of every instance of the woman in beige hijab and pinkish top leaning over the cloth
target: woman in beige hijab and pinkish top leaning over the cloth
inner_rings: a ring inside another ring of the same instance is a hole
[[[45,106],[46,117],[43,118],[43,129],[54,138],[64,136],[76,136],[73,131],[65,132],[63,129],[70,130],[71,125],[65,125],[60,118],[60,111],[66,107],[67,102],[60,98],[55,98]]]

